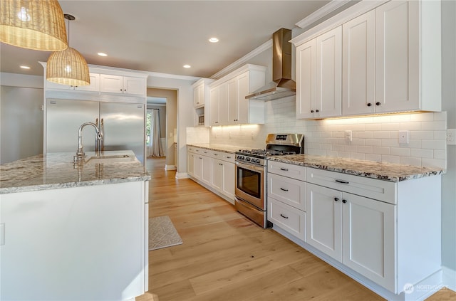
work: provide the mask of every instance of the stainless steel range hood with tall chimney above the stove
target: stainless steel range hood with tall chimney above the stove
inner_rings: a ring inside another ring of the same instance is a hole
[[[296,83],[291,79],[290,40],[290,29],[281,28],[272,35],[272,81],[246,99],[278,100],[296,95]]]

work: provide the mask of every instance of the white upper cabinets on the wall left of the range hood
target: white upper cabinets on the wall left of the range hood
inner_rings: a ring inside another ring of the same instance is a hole
[[[264,123],[264,101],[245,97],[264,85],[265,73],[265,67],[247,64],[212,83],[210,124]]]

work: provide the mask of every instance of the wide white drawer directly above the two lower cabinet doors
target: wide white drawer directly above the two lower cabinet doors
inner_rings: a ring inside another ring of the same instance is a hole
[[[309,183],[396,204],[397,186],[394,182],[314,168],[307,168],[306,179]]]

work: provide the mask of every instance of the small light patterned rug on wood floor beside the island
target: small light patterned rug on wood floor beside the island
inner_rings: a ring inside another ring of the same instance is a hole
[[[182,244],[169,216],[149,218],[149,250]]]

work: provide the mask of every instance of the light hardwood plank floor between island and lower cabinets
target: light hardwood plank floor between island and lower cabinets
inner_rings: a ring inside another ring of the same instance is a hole
[[[137,301],[383,300],[164,167],[164,159],[147,159],[149,215],[170,216],[183,243],[149,252],[149,292]],[[444,289],[427,300],[456,300],[456,293]]]

